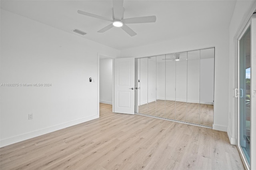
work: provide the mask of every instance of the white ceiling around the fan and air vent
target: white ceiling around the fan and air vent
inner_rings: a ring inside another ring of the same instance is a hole
[[[125,0],[124,18],[156,16],[155,23],[127,24],[137,33],[130,37],[120,28],[98,33],[111,22],[77,13],[82,10],[112,19],[111,0],[1,0],[4,10],[119,50],[228,28],[235,4],[233,0]],[[74,33],[74,29],[87,34]]]

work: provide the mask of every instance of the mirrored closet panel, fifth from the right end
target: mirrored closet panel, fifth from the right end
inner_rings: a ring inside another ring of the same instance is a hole
[[[156,56],[156,115],[165,115],[165,55]]]

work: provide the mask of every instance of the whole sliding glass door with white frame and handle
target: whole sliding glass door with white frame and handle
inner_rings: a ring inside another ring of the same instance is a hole
[[[255,169],[256,14],[238,39],[238,148],[247,169]]]

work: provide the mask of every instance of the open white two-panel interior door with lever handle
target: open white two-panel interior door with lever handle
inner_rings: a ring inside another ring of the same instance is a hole
[[[134,115],[135,58],[118,58],[114,62],[114,113]]]

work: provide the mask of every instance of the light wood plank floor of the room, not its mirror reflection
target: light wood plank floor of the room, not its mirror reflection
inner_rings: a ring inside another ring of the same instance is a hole
[[[226,132],[184,123],[112,113],[0,148],[0,169],[243,170]]]

